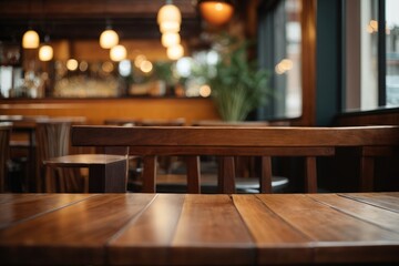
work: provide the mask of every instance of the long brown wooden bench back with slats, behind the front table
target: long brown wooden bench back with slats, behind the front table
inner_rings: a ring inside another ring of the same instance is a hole
[[[234,193],[234,156],[263,156],[260,192],[272,191],[272,156],[305,157],[305,191],[317,192],[316,157],[334,156],[338,146],[398,146],[399,127],[216,127],[216,126],[73,126],[78,146],[130,146],[143,156],[143,192],[155,192],[156,156],[187,156],[187,191],[201,193],[197,155],[223,156],[218,186]]]

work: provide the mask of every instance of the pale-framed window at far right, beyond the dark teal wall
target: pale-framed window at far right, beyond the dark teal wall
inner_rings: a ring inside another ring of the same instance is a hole
[[[345,1],[345,111],[399,105],[398,9],[396,0]]]

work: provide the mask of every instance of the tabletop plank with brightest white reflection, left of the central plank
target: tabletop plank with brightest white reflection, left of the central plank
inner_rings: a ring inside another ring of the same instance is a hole
[[[110,264],[170,264],[170,247],[184,195],[157,195],[144,212],[109,243]]]

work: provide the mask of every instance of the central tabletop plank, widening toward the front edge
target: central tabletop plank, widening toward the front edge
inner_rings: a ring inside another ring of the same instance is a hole
[[[171,263],[248,265],[254,256],[252,237],[228,195],[186,195]]]

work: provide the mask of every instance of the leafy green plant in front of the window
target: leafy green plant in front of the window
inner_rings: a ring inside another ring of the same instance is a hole
[[[212,98],[225,121],[243,121],[248,113],[267,103],[269,74],[247,57],[247,42],[225,40],[215,74],[208,76]]]

